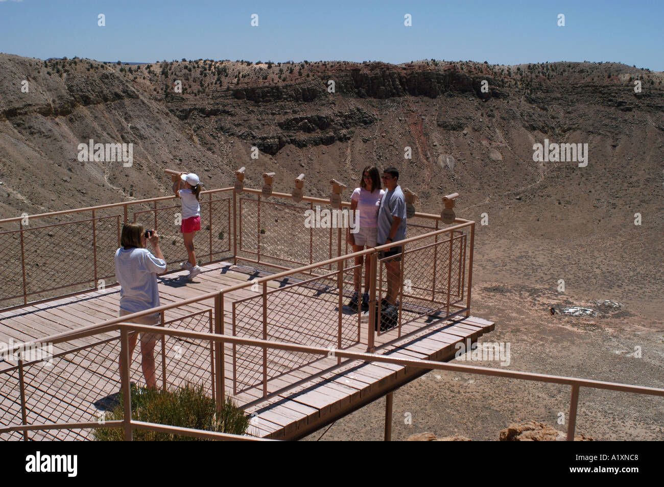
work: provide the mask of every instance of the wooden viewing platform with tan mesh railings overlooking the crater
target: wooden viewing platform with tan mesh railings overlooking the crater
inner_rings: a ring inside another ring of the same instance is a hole
[[[113,255],[123,222],[155,228],[169,263],[157,278],[161,306],[141,312],[161,316],[158,387],[200,384],[218,405],[232,397],[251,415],[251,437],[299,439],[383,395],[391,405],[392,391],[428,372],[340,354],[448,361],[457,343],[493,330],[470,314],[474,222],[454,213],[447,226],[437,215],[408,219],[398,315],[388,320],[378,306],[390,261],[382,249],[351,254],[347,230],[303,225],[306,210],[330,200],[237,189],[202,193],[195,245],[203,273],[192,282],[178,266],[186,254],[173,197],[35,215],[29,224],[0,220],[0,244],[14,243],[1,257],[23,269],[22,282],[0,275],[9,306],[0,311],[0,341],[52,347],[48,360],[0,362],[1,439],[92,439],[118,404],[119,330],[138,329],[118,317]],[[71,261],[62,249],[86,232],[91,247]],[[347,307],[355,272],[364,272],[359,257],[370,263],[372,312]],[[137,350],[128,381],[144,383],[140,360]]]

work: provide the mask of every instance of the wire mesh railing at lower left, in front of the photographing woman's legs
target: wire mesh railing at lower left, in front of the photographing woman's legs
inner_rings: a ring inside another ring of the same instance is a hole
[[[189,313],[164,322],[166,328],[213,332],[212,309]],[[96,334],[101,338],[101,334]],[[203,385],[210,397],[215,396],[214,350],[210,343],[172,335],[156,335],[153,356],[155,380],[163,390],[183,387],[187,383]],[[67,340],[72,341],[72,340]],[[141,370],[142,344],[129,367],[129,378],[137,385],[145,384]],[[102,423],[109,411],[119,405],[120,338],[94,341],[23,362],[0,371],[0,425],[9,426],[25,415],[27,425],[58,422],[98,421]],[[21,439],[16,432],[3,433],[0,439]],[[31,440],[90,440],[86,429],[56,429],[27,433]]]

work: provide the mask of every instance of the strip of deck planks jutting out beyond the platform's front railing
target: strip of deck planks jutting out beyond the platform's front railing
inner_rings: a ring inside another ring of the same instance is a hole
[[[424,324],[422,320],[421,325]],[[493,322],[475,316],[438,320],[404,340],[376,350],[376,353],[394,358],[447,362],[454,358],[457,343],[466,344],[466,340],[475,343],[479,336],[494,327]],[[301,373],[317,374],[335,366],[336,362],[326,358],[304,368]],[[429,372],[428,369],[386,363],[353,361],[343,364],[332,372],[247,409],[252,414],[248,433],[271,439],[301,439],[426,372]]]

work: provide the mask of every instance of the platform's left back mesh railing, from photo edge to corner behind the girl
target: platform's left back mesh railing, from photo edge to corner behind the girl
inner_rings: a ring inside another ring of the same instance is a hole
[[[232,257],[230,192],[201,192],[201,232],[194,240],[201,263]],[[0,220],[0,303],[11,309],[27,305],[29,298],[49,301],[116,284],[114,256],[127,222],[155,228],[169,264],[186,260],[177,217],[181,207],[159,206],[175,199],[160,196]]]

